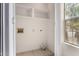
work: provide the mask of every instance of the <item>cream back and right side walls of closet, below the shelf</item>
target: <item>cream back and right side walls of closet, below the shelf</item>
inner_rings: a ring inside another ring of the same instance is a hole
[[[24,28],[24,33],[16,33],[16,52],[39,49],[42,43],[47,43],[48,48],[53,52],[54,14],[50,15],[50,19],[16,16],[16,32],[17,28]]]

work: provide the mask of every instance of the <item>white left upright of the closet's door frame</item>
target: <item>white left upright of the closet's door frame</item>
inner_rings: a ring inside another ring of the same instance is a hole
[[[9,56],[16,56],[15,3],[9,3]]]

